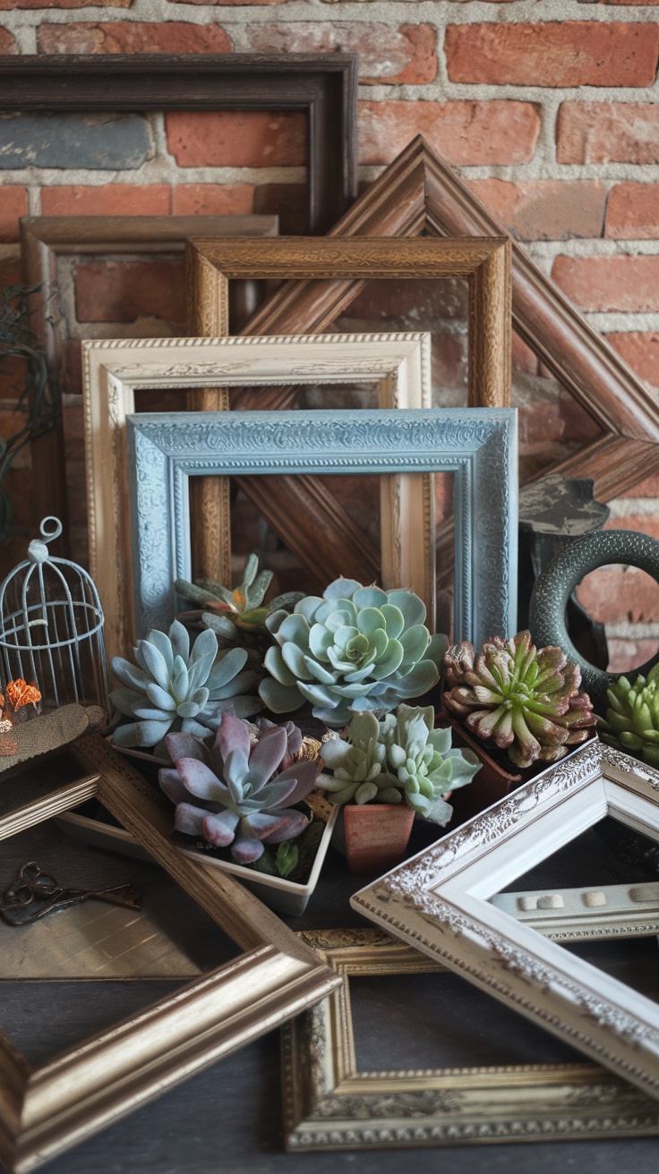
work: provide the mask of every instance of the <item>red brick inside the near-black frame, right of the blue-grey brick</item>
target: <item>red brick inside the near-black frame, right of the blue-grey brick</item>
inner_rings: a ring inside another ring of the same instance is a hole
[[[179,167],[302,167],[307,116],[301,112],[172,110],[167,146]]]

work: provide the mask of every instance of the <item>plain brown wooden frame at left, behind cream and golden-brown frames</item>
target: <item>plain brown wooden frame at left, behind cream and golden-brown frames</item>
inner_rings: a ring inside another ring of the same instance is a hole
[[[183,254],[186,239],[196,232],[214,236],[276,236],[277,216],[22,216],[20,220],[21,264],[29,298],[31,325],[46,352],[49,394],[60,398],[63,359],[65,308],[60,296],[58,259],[129,254]],[[235,283],[231,318],[242,322],[254,309],[254,283]],[[63,419],[33,441],[33,511],[36,518],[55,514],[63,526],[59,549],[68,555],[68,500]]]

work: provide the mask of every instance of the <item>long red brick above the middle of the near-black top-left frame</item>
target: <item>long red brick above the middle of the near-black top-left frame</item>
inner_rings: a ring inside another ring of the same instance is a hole
[[[127,20],[112,25],[96,21],[41,25],[36,39],[41,53],[230,53],[233,49],[231,39],[218,25],[186,25],[174,20],[162,25]]]

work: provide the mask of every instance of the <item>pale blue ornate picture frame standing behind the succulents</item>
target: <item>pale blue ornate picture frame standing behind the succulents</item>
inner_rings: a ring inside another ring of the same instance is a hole
[[[174,580],[191,579],[189,478],[280,473],[453,473],[453,639],[516,632],[513,407],[144,412],[127,456],[139,636],[167,630]]]

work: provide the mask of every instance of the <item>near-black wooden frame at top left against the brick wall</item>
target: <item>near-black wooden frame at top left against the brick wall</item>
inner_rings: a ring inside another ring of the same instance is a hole
[[[304,230],[328,231],[357,194],[356,54],[5,58],[0,113],[28,110],[301,110],[307,115]],[[55,439],[56,447],[51,433],[34,441],[34,467],[45,471],[39,485],[54,484],[63,467],[61,433]],[[63,502],[61,490],[60,497]],[[54,507],[52,499],[48,508],[38,501],[35,515]],[[58,512],[63,520],[60,502]]]

